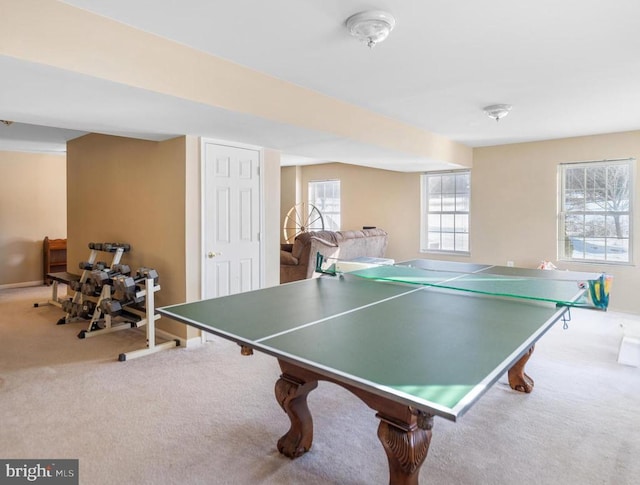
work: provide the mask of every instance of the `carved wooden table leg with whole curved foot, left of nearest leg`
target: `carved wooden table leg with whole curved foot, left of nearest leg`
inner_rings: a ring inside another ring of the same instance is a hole
[[[303,382],[282,374],[276,382],[276,399],[291,421],[289,431],[278,440],[278,451],[289,458],[297,458],[311,448],[313,420],[307,406],[307,395],[318,381]]]

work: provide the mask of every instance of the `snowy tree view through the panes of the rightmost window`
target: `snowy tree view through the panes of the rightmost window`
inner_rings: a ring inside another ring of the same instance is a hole
[[[632,160],[563,164],[562,259],[630,262]]]

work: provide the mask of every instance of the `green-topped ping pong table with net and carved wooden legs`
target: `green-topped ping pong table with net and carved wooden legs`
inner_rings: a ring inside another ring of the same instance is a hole
[[[291,423],[277,443],[282,454],[310,449],[307,396],[328,381],[376,411],[390,483],[417,484],[434,417],[457,420],[504,373],[531,392],[524,367],[536,341],[571,306],[587,305],[587,283],[598,281],[413,260],[158,311],[278,359],[275,395]]]

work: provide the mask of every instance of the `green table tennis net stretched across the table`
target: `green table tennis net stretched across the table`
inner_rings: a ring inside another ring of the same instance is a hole
[[[325,274],[338,274],[335,264],[322,269],[318,255],[316,269]],[[455,265],[453,265],[455,267]],[[544,271],[544,270],[540,270]],[[561,306],[606,310],[612,278],[567,280],[531,276],[499,275],[478,272],[431,270],[404,265],[370,265],[355,269],[349,275],[377,281],[422,285],[484,295],[551,302]]]

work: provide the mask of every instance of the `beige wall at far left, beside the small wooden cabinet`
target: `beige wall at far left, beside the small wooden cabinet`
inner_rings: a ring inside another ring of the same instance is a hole
[[[0,287],[42,282],[42,240],[67,237],[66,158],[0,151]]]

